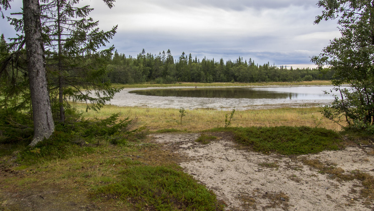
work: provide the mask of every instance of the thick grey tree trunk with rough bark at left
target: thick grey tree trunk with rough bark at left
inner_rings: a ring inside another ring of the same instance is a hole
[[[39,0],[23,0],[23,21],[33,107],[34,137],[30,146],[49,138],[55,130],[46,79],[46,64],[40,22]]]

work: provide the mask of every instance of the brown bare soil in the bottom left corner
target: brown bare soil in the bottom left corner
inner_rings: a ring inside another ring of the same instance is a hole
[[[0,211],[65,211],[65,210],[105,210],[95,205],[85,191],[74,189],[72,184],[56,182],[38,184],[30,180],[32,171],[14,171],[0,165]],[[43,172],[37,173],[43,181]],[[14,186],[7,180],[17,177],[19,183]]]

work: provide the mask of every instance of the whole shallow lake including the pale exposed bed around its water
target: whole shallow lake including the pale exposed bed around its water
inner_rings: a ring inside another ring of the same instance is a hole
[[[126,88],[110,104],[186,109],[248,110],[313,107],[334,100],[333,86]]]

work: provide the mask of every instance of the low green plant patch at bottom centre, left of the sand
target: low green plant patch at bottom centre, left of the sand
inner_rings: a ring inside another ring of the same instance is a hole
[[[223,210],[215,195],[188,174],[165,166],[134,166],[97,196],[129,203],[135,210]]]

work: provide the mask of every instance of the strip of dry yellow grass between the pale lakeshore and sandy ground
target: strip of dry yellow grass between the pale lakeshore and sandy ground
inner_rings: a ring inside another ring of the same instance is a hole
[[[179,109],[175,108],[146,108],[146,107],[119,107],[106,105],[100,111],[85,112],[85,104],[74,104],[83,111],[85,118],[106,118],[113,113],[120,113],[120,118],[137,118],[139,125],[145,125],[150,131],[159,129],[179,129],[187,131],[200,131],[224,126],[225,114],[230,111],[221,110],[186,110],[180,125]],[[312,117],[312,115],[314,117]],[[276,108],[266,110],[236,111],[231,120],[233,127],[242,126],[310,126],[315,127],[318,119],[322,118],[319,108]],[[322,119],[319,127],[340,130],[340,126],[328,119]]]

